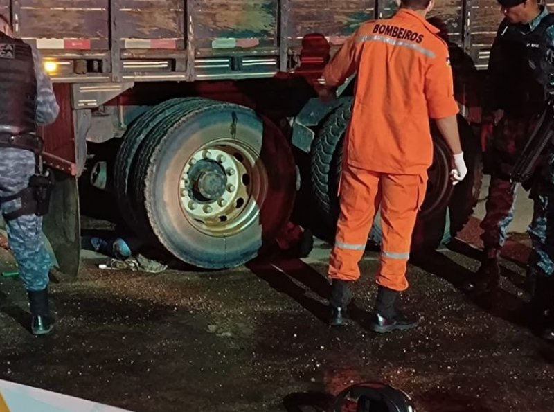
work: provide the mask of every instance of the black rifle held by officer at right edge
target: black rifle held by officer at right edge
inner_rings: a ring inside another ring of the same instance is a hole
[[[546,106],[535,125],[524,150],[521,151],[514,168],[510,172],[510,180],[513,183],[528,181],[535,172],[537,161],[548,142],[554,138],[554,98],[546,101]]]

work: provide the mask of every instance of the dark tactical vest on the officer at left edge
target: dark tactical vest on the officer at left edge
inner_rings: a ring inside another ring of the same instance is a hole
[[[37,79],[30,46],[0,33],[0,133],[37,131]]]

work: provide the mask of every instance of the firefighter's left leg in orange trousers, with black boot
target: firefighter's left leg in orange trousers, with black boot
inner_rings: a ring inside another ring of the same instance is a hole
[[[379,205],[379,174],[345,164],[339,190],[340,215],[329,260],[331,325],[343,324],[352,298],[349,283],[360,276],[359,261]]]

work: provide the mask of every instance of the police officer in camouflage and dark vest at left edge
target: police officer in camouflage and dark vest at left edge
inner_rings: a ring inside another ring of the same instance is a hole
[[[38,162],[37,124],[53,123],[59,110],[36,48],[16,39],[0,16],[0,208],[28,292],[33,334],[47,334],[54,324],[48,307],[51,260],[37,212],[38,190],[47,187]]]

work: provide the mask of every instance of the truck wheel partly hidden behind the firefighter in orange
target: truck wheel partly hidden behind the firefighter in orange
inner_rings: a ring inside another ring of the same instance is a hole
[[[311,158],[312,190],[316,205],[334,233],[339,216],[337,197],[341,173],[343,138],[352,114],[352,98],[343,98],[316,134]],[[427,195],[418,214],[412,238],[412,251],[434,250],[448,244],[463,229],[479,198],[483,178],[481,148],[463,117],[458,116],[461,143],[467,164],[467,177],[456,186],[449,181],[451,154],[434,125],[434,162],[429,168]],[[377,213],[369,240],[379,244],[382,239],[380,215]]]

